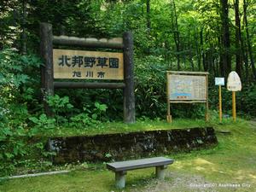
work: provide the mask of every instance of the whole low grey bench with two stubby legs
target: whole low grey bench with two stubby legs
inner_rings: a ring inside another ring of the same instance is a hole
[[[125,187],[125,175],[127,171],[143,169],[155,166],[155,175],[157,178],[165,178],[165,169],[173,160],[165,157],[146,158],[142,160],[125,160],[114,163],[107,163],[107,168],[115,172],[115,185],[122,189]]]

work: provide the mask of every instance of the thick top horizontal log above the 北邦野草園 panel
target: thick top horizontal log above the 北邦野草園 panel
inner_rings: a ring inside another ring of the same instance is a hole
[[[88,48],[108,48],[108,49],[123,49],[124,44],[122,38],[75,38],[67,36],[54,36],[53,44],[81,46]]]

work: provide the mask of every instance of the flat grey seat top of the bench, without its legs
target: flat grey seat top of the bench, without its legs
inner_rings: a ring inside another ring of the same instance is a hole
[[[173,160],[165,157],[146,158],[142,160],[125,160],[115,163],[108,163],[107,168],[113,172],[122,172],[152,166],[166,166],[172,164]]]

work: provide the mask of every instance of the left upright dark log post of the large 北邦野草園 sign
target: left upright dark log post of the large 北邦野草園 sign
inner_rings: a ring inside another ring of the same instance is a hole
[[[49,116],[53,113],[46,102],[46,97],[54,94],[52,37],[52,26],[48,23],[40,23],[40,53],[44,60],[44,65],[41,66],[41,86],[44,95],[44,110]]]

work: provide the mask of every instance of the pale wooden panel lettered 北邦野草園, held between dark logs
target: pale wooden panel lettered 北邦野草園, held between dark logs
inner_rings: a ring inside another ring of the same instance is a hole
[[[53,49],[54,79],[124,79],[123,53]]]

